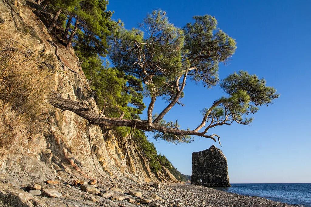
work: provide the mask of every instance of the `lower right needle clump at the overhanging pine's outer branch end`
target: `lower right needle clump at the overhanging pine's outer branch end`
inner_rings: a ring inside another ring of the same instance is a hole
[[[230,74],[221,81],[220,87],[230,97],[221,97],[217,101],[220,104],[216,107],[201,111],[203,115],[208,115],[207,121],[211,122],[210,128],[221,123],[227,124],[226,122],[229,122],[229,125],[232,122],[250,124],[253,117],[249,118],[246,115],[257,113],[258,106],[272,103],[279,97],[274,88],[266,86],[264,79],[258,79],[256,75],[250,75],[246,71]],[[217,124],[213,124],[214,122]]]

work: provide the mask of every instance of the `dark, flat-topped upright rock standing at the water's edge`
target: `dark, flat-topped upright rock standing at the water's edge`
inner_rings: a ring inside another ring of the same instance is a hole
[[[191,184],[206,187],[230,186],[227,159],[216,146],[192,153]]]

